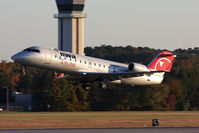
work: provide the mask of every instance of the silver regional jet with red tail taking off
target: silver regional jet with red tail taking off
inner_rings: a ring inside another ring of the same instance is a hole
[[[59,72],[61,74],[58,78],[76,80],[84,85],[88,82],[98,81],[105,88],[110,83],[132,86],[160,84],[165,72],[171,70],[175,55],[163,51],[148,66],[145,66],[134,62],[123,64],[34,46],[11,58],[14,62],[24,66]]]

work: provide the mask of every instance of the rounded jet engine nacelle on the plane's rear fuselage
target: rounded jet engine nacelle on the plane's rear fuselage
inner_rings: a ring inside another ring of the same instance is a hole
[[[134,71],[134,72],[149,71],[149,69],[145,65],[134,63],[134,62],[129,63],[128,70]]]

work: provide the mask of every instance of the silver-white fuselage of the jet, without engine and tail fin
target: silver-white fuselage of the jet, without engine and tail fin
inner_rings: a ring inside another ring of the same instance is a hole
[[[107,61],[103,59],[41,47],[31,47],[30,49],[36,49],[38,51],[31,51],[27,49],[14,55],[12,59],[15,62],[23,65],[51,69],[56,72],[70,74],[71,76],[78,76],[83,72],[117,73],[128,71],[128,65],[123,63],[117,63],[113,61]],[[150,70],[146,67],[145,71]],[[163,72],[154,73],[151,75],[143,74],[137,77],[121,78],[110,82],[128,85],[160,84],[164,78],[163,75]]]

